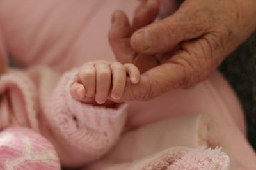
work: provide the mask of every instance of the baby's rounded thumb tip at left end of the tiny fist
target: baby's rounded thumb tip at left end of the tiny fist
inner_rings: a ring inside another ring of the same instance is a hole
[[[75,82],[70,87],[70,94],[74,99],[82,101],[86,96],[86,89],[82,84]]]

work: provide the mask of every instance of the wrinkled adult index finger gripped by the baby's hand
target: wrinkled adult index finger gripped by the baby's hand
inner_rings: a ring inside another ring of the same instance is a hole
[[[137,85],[127,83],[122,100],[145,101],[172,89],[187,88],[204,80],[227,55],[211,36],[183,43],[182,49],[160,66],[141,75]]]

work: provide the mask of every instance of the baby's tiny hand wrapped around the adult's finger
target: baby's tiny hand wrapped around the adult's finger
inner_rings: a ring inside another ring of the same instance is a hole
[[[140,81],[140,71],[134,64],[120,62],[95,61],[86,62],[79,68],[77,81],[70,88],[74,99],[103,104],[107,99],[118,101],[127,82],[132,84]],[[110,97],[109,97],[110,96]]]

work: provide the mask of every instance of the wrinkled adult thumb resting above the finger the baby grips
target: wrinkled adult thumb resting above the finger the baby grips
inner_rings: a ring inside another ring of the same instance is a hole
[[[208,29],[204,15],[193,8],[180,6],[173,15],[158,20],[134,32],[131,37],[133,50],[144,54],[169,52],[182,41],[202,36]]]

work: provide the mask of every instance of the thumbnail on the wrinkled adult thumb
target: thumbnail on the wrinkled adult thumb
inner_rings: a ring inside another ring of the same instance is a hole
[[[150,41],[147,36],[146,31],[140,31],[134,36],[134,43],[140,48],[140,50],[145,51],[150,48]]]

